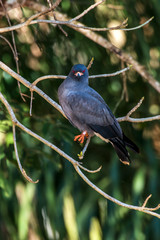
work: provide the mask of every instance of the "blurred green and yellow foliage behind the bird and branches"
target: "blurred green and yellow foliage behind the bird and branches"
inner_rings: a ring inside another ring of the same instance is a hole
[[[4,1],[8,9],[11,8],[8,14],[12,25],[37,12],[27,6],[10,7],[10,2]],[[48,6],[47,1],[29,2]],[[93,3],[63,0],[57,11],[72,18]],[[128,18],[129,27],[134,27],[152,16],[152,22],[139,30],[99,34],[145,65],[160,81],[160,1],[109,0],[90,11],[81,22],[92,27],[109,27]],[[0,4],[0,27],[7,26]],[[28,81],[33,82],[47,74],[68,75],[72,65],[88,65],[92,57],[95,60],[89,70],[90,75],[121,69],[121,62],[113,53],[75,30],[67,26],[63,28],[68,37],[58,27],[47,24],[35,24],[14,31],[20,74]],[[3,36],[12,43],[11,32]],[[16,71],[11,49],[1,38],[0,49],[0,60]],[[123,91],[122,75],[91,79],[90,86],[103,96],[112,111],[115,110],[116,117],[126,115],[143,96],[144,102],[133,117],[160,114],[159,93],[132,69],[126,77],[128,101],[124,98],[116,109]],[[57,89],[61,82],[61,79],[45,80],[38,83],[38,87],[58,101]],[[21,86],[21,89],[24,94],[30,95],[27,88]],[[2,70],[0,91],[22,124],[78,159],[82,146],[73,139],[79,131],[57,110],[34,93],[33,116],[30,117],[30,99],[26,98],[23,102],[17,81]],[[142,205],[152,194],[147,206],[155,207],[160,202],[160,124],[158,121],[123,122],[121,126],[139,146],[140,154],[131,152],[132,164],[125,166],[110,144],[93,137],[83,165],[89,169],[102,165],[102,170],[85,174],[104,192],[125,203]],[[0,239],[160,239],[159,219],[107,201],[80,178],[66,159],[18,128],[16,133],[21,163],[32,179],[39,179],[38,184],[26,182],[17,167],[11,120],[0,103]]]

